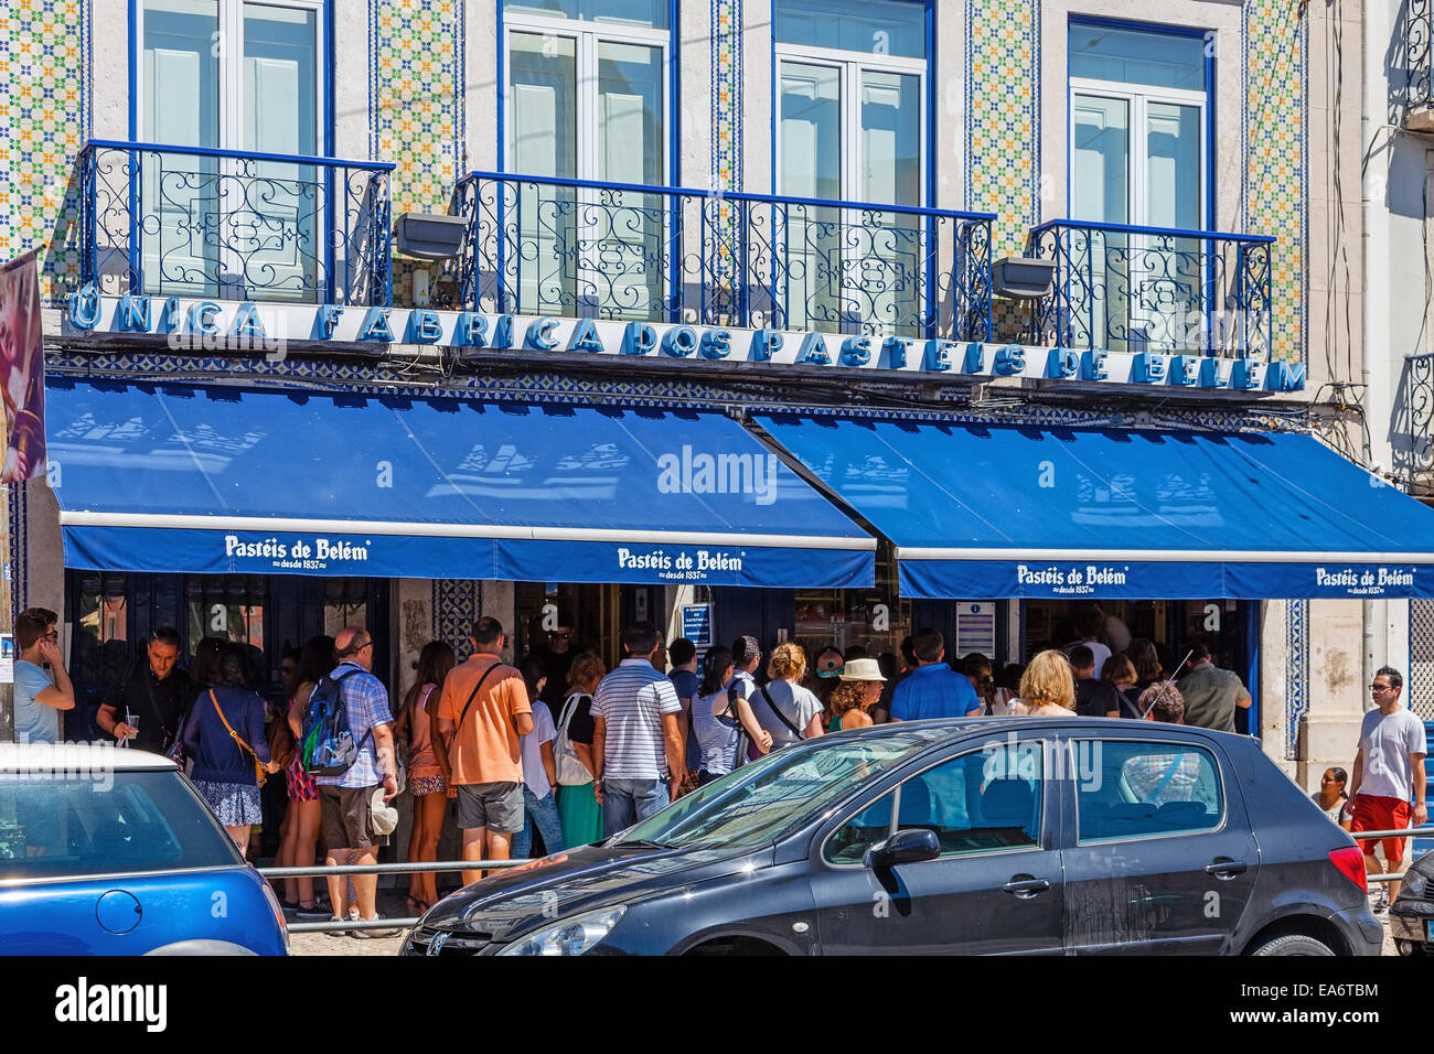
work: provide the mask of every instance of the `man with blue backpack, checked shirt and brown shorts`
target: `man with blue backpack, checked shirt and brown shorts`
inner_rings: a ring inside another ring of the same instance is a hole
[[[374,822],[374,810],[399,793],[397,759],[393,751],[393,714],[389,691],[374,677],[373,638],[360,627],[340,630],[334,637],[338,665],[318,681],[304,716],[300,744],[304,767],[314,774],[323,806],[323,837],[328,846],[324,863],[373,865],[379,846],[389,845],[387,825]],[[374,802],[374,799],[379,799]],[[353,876],[358,918],[379,918],[377,875]],[[346,919],[348,876],[328,878],[328,902],[334,918]],[[356,929],[353,936],[393,936],[393,929]]]

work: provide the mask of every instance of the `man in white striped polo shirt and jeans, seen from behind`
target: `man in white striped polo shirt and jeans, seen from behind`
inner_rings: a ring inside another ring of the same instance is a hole
[[[683,706],[652,665],[657,627],[631,625],[622,644],[628,657],[602,678],[592,700],[592,767],[605,837],[660,812],[683,782]]]

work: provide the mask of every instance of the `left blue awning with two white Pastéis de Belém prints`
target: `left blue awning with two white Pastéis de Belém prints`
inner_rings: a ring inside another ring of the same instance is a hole
[[[66,565],[866,587],[876,542],[721,414],[47,381]]]

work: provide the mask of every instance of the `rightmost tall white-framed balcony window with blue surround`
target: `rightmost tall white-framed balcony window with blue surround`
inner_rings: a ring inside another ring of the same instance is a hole
[[[1180,30],[1070,26],[1071,219],[1203,229],[1209,89],[1205,36]],[[1093,275],[1097,346],[1183,347],[1199,313],[1202,242],[1093,234],[1081,242]]]

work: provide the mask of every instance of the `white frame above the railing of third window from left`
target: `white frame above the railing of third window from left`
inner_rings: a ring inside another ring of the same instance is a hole
[[[862,165],[865,158],[862,156],[862,73],[906,73],[915,75],[916,95],[921,99],[921,110],[918,113],[918,135],[921,151],[918,156],[918,169],[921,178],[918,179],[919,196],[915,204],[916,208],[926,205],[926,175],[929,168],[931,143],[926,141],[926,77],[929,76],[929,60],[928,59],[909,59],[905,56],[895,54],[875,54],[872,52],[845,52],[833,47],[806,47],[803,44],[774,44],[776,56],[776,77],[771,105],[776,110],[776,120],[773,122],[773,139],[774,139],[774,161],[771,171],[771,192],[783,196],[786,195],[780,186],[783,181],[782,172],[782,63],[783,62],[800,62],[804,66],[826,66],[827,69],[837,69],[840,72],[840,105],[842,105],[842,201],[862,201],[863,204],[873,205],[893,205],[896,202],[878,201],[865,202],[865,198],[856,196],[856,189],[862,185]]]

